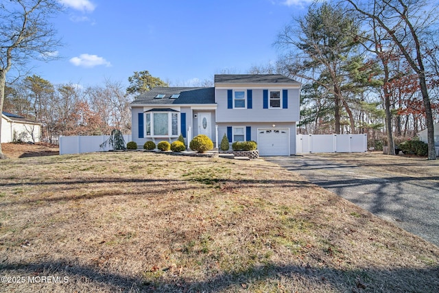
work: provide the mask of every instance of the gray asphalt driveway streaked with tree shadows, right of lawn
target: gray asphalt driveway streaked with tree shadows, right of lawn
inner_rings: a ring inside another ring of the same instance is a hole
[[[439,246],[439,161],[384,154],[265,157]]]

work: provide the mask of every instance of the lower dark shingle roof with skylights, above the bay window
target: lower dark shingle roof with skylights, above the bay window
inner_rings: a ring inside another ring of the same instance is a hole
[[[162,99],[156,99],[164,94]],[[180,96],[171,99],[171,95]],[[131,103],[135,104],[215,104],[215,88],[213,87],[156,87],[139,95]]]

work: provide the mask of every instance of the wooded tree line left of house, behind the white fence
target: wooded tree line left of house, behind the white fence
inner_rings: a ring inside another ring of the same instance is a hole
[[[32,75],[5,86],[3,110],[42,123],[41,141],[56,143],[60,135],[130,133],[131,99],[119,82],[83,89]]]

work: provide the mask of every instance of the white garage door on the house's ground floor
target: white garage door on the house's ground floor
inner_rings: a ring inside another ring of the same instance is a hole
[[[289,156],[289,128],[258,129],[260,156]]]

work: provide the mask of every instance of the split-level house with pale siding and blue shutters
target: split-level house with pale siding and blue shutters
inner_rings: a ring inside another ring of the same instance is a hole
[[[157,87],[130,104],[132,140],[187,145],[198,134],[215,147],[256,141],[261,156],[296,154],[300,83],[283,75],[215,75],[213,87]],[[231,147],[230,147],[231,148]]]

